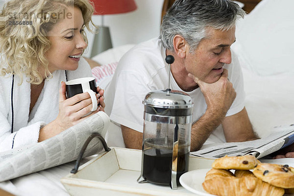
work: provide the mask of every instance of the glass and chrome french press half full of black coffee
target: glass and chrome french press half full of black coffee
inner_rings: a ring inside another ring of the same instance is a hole
[[[170,69],[173,56],[167,56],[166,61]],[[142,169],[137,181],[176,189],[179,177],[189,167],[192,99],[184,92],[168,88],[149,92],[143,104]]]

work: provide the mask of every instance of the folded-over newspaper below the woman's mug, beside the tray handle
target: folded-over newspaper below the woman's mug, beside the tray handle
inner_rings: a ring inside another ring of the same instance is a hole
[[[107,114],[98,112],[48,140],[1,152],[0,182],[76,160],[91,133],[97,132],[104,137],[109,123]],[[84,157],[102,149],[100,140],[94,138]]]

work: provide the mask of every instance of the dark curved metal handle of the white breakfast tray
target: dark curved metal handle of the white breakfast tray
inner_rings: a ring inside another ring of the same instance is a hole
[[[107,144],[106,144],[104,138],[103,138],[99,133],[92,133],[92,134],[89,136],[89,138],[86,140],[86,142],[84,143],[84,145],[83,145],[83,147],[82,147],[82,149],[81,149],[81,151],[80,151],[80,153],[79,153],[79,155],[78,155],[78,157],[77,157],[77,159],[76,159],[76,162],[75,162],[74,168],[73,168],[73,170],[71,171],[71,173],[76,173],[76,172],[77,172],[78,167],[79,167],[79,165],[80,165],[80,161],[81,161],[82,158],[83,158],[83,154],[84,154],[86,148],[88,147],[88,145],[89,145],[89,143],[91,142],[91,140],[93,140],[93,139],[96,138],[96,137],[102,142],[102,145],[103,145],[105,151],[110,151],[110,150],[111,150],[111,148],[109,148],[109,147],[107,146]]]

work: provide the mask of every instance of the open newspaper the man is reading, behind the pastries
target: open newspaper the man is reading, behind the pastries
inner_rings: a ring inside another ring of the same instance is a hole
[[[294,124],[289,126],[276,126],[268,137],[247,141],[211,144],[203,149],[191,152],[191,155],[217,159],[225,155],[237,156],[252,154],[256,158],[262,158],[283,147],[294,143]]]

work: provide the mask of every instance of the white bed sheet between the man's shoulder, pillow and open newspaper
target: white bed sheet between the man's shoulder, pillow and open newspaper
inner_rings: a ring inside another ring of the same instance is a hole
[[[293,73],[261,76],[243,69],[245,107],[260,137],[272,127],[294,123]]]

